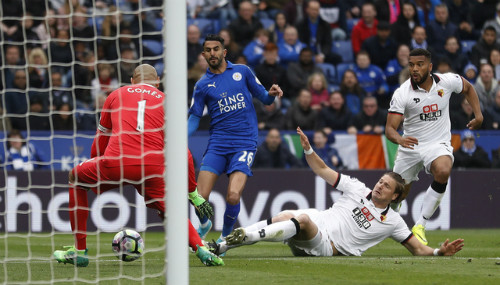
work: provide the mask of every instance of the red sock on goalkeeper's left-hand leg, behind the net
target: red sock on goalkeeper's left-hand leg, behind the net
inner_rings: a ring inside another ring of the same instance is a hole
[[[78,250],[87,248],[87,219],[89,217],[89,202],[87,190],[70,185],[69,188],[69,220],[75,235],[75,247]]]

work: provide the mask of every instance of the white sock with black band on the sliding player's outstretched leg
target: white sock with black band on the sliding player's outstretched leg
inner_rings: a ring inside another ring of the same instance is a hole
[[[298,234],[299,231],[299,222],[291,219],[265,226],[261,230],[246,232],[245,242],[284,241]]]

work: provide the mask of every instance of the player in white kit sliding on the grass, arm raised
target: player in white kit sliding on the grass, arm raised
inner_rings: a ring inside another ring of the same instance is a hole
[[[413,255],[454,255],[463,247],[463,239],[446,240],[440,248],[430,248],[413,238],[403,218],[390,208],[404,189],[404,181],[394,172],[384,174],[373,191],[354,177],[329,168],[314,153],[309,140],[297,128],[300,142],[311,169],[343,192],[325,211],[316,209],[283,211],[269,220],[238,228],[215,246],[216,254],[258,241],[286,241],[296,256],[360,256],[368,248],[391,237]]]

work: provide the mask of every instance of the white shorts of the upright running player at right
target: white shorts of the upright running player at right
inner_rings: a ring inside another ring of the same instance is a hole
[[[407,184],[418,181],[418,173],[425,167],[431,173],[432,162],[440,156],[449,156],[454,161],[450,142],[419,144],[414,149],[399,146],[393,171],[399,173]]]

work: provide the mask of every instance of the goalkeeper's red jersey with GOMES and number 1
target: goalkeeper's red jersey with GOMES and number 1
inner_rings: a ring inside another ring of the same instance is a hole
[[[109,165],[164,165],[164,98],[148,84],[109,94],[99,123],[101,131],[112,132],[104,151]]]

